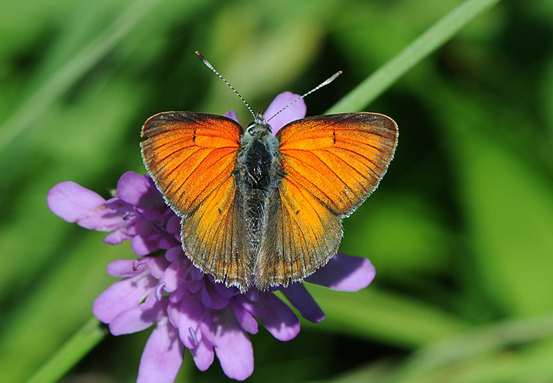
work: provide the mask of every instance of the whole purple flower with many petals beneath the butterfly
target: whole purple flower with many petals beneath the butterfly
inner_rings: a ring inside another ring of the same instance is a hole
[[[265,113],[270,118],[297,95],[281,93]],[[273,131],[303,118],[303,100],[270,121]],[[236,113],[227,116],[236,120]],[[196,366],[205,371],[217,356],[224,373],[236,380],[249,377],[254,352],[247,333],[261,323],[277,339],[288,341],[299,333],[299,319],[273,294],[281,290],[301,315],[313,322],[324,313],[302,283],[260,291],[214,283],[183,254],[180,218],[165,205],[151,178],[131,171],[122,175],[116,197],[102,196],[71,181],[48,192],[48,206],[58,216],[87,229],[110,232],[111,245],[131,241],[138,259],[113,261],[107,272],[121,277],[97,297],[94,315],[109,324],[113,335],[135,333],[156,324],[142,353],[138,382],[173,382],[185,348]],[[375,277],[373,265],[363,258],[336,254],[306,282],[335,290],[356,291]],[[259,321],[259,322],[258,322]]]

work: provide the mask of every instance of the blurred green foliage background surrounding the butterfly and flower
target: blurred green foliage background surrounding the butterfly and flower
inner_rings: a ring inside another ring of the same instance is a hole
[[[0,1],[0,371],[20,382],[91,317],[129,245],[54,216],[64,180],[109,196],[144,172],[160,111],[245,107],[308,91],[332,104],[456,0]],[[400,126],[379,189],[341,251],[373,261],[357,293],[308,286],[327,318],[251,337],[249,382],[553,382],[553,2],[478,16],[368,108]],[[106,337],[64,382],[133,382],[149,335]],[[225,379],[218,362],[178,382]]]

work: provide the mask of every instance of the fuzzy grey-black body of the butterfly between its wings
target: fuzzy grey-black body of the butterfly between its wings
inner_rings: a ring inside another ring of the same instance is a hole
[[[236,160],[237,207],[252,258],[259,252],[269,197],[282,178],[279,140],[260,114],[243,134]]]

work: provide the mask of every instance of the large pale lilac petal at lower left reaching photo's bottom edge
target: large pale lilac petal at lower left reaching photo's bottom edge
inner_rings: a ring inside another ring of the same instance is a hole
[[[137,383],[172,383],[182,364],[184,348],[167,317],[153,329],[138,368]]]

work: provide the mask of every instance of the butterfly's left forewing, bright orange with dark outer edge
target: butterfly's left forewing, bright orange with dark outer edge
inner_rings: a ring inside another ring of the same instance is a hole
[[[144,124],[144,164],[181,216],[232,176],[241,129],[229,118],[190,112],[159,113]]]

